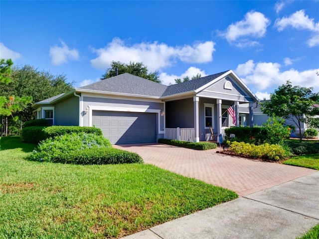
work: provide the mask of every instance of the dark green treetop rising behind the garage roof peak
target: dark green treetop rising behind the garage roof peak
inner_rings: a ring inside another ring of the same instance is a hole
[[[108,68],[105,74],[102,75],[102,79],[107,79],[117,74],[130,73],[132,75],[140,76],[145,79],[149,79],[158,83],[161,83],[159,72],[150,72],[148,67],[142,62],[130,61],[129,64],[125,64],[120,61],[112,61],[111,67]]]

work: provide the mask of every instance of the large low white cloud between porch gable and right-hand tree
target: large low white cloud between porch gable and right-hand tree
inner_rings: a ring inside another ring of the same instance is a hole
[[[315,91],[319,91],[319,85],[314,84],[318,81],[316,71],[319,71],[319,68],[305,71],[291,68],[281,72],[280,67],[281,65],[276,62],[253,63],[252,60],[249,60],[244,64],[239,64],[236,72],[246,84],[254,86],[258,91],[274,90],[285,84],[287,80],[290,80],[293,85],[315,87]]]

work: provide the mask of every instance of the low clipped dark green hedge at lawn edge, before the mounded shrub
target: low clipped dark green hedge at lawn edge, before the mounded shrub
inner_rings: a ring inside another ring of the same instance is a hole
[[[88,148],[79,151],[70,151],[51,162],[66,164],[130,164],[143,163],[140,155],[133,152],[114,148]]]

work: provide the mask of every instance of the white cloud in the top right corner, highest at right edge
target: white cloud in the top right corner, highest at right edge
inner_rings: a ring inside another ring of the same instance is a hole
[[[305,10],[296,11],[288,17],[277,18],[275,26],[278,31],[282,31],[289,26],[298,30],[309,30],[314,33],[314,36],[307,41],[308,45],[310,47],[319,45],[319,22],[315,23],[314,18],[309,18],[305,14]]]

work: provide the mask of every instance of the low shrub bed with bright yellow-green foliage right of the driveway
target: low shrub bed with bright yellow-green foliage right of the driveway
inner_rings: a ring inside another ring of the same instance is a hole
[[[291,156],[289,150],[277,144],[254,145],[244,142],[232,142],[228,149],[230,152],[252,158],[279,161]]]

